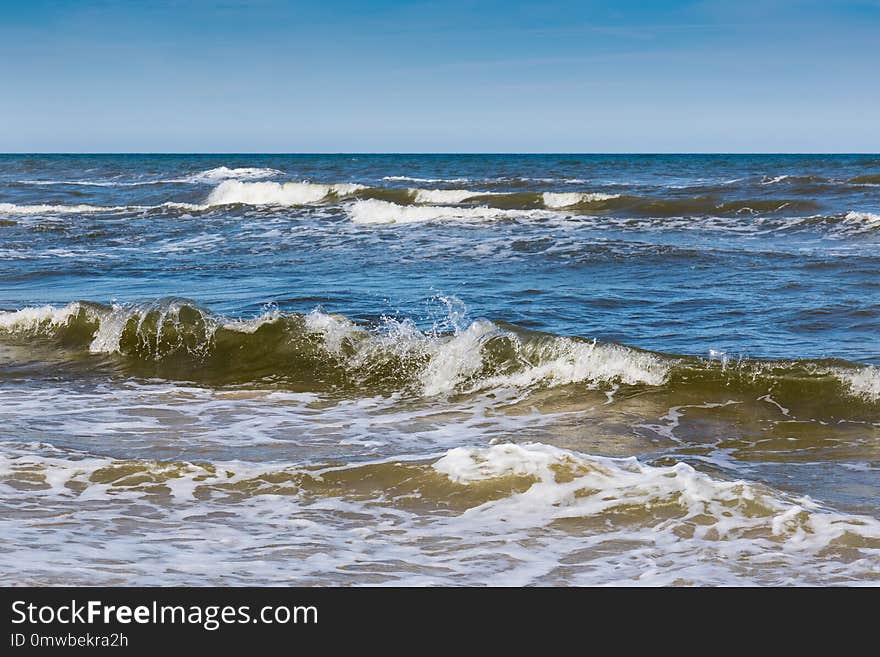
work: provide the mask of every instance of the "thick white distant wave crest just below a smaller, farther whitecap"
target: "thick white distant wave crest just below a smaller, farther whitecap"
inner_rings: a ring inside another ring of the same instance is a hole
[[[217,185],[207,205],[308,205],[328,197],[344,197],[365,189],[355,183],[321,185],[307,182],[241,182],[227,180]]]

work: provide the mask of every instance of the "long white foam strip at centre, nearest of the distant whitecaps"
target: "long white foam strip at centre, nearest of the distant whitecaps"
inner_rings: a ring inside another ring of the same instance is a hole
[[[356,224],[411,224],[426,221],[497,221],[524,216],[541,216],[530,210],[503,210],[490,207],[454,207],[441,205],[407,206],[389,201],[367,199],[346,208]]]

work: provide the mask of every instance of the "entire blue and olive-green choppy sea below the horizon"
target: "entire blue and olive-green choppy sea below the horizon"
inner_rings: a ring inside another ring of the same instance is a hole
[[[880,156],[0,156],[2,584],[878,584]]]

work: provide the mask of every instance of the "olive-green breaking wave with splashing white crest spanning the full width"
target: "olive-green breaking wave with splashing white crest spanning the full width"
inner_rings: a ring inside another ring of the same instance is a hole
[[[210,384],[275,382],[299,391],[403,391],[423,396],[580,385],[700,394],[772,392],[786,405],[846,415],[876,410],[880,368],[833,360],[671,356],[477,320],[423,331],[411,320],[360,325],[320,310],[215,315],[191,301],[131,306],[75,302],[0,313],[7,342],[107,354],[136,375]],[[873,412],[873,411],[871,411]]]

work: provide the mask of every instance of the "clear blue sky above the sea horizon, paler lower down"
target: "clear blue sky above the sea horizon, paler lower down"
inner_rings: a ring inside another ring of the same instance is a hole
[[[0,152],[880,152],[880,0],[0,0]]]

